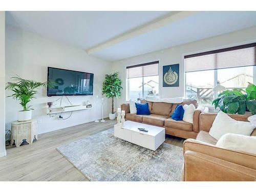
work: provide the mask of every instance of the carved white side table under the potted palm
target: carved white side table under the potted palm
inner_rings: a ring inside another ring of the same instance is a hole
[[[11,123],[11,145],[15,141],[16,147],[22,144],[23,139],[27,139],[29,144],[32,144],[34,137],[37,140],[37,120],[29,121],[14,121]]]

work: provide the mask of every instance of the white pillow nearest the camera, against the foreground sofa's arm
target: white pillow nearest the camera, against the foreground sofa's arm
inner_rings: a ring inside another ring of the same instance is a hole
[[[256,154],[256,137],[227,133],[219,139],[216,146]]]

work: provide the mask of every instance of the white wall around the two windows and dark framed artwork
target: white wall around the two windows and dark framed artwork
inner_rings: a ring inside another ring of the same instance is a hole
[[[119,76],[123,80],[122,97],[116,100],[117,105],[125,102],[125,90],[126,90],[126,66],[133,66],[140,63],[159,60],[159,84],[160,84],[160,96],[165,97],[181,97],[184,96],[184,54],[193,54],[203,51],[221,49],[236,45],[242,45],[244,43],[256,42],[256,27],[247,28],[244,30],[227,33],[215,37],[206,38],[203,40],[190,42],[181,46],[176,46],[161,51],[147,53],[136,57],[131,57],[119,61],[113,62],[112,71],[119,71]],[[162,66],[180,63],[180,86],[173,88],[162,87]]]

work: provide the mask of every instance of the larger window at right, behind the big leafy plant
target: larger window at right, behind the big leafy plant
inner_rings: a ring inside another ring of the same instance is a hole
[[[186,55],[185,94],[200,104],[211,104],[218,93],[212,88],[221,83],[226,89],[245,89],[256,79],[256,43],[193,55]]]

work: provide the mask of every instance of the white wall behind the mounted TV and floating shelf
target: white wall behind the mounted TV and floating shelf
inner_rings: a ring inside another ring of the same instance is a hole
[[[67,120],[59,120],[58,116],[49,117],[46,115],[46,103],[60,96],[47,97],[46,90],[39,89],[36,99],[30,103],[35,109],[32,111],[32,118],[41,121],[38,124],[38,133],[100,119],[101,99],[96,99],[95,96],[97,94],[101,96],[100,90],[104,75],[111,72],[110,62],[89,56],[84,50],[61,44],[35,33],[6,26],[6,81],[10,81],[10,77],[14,74],[35,81],[47,81],[48,66],[94,73],[94,96],[68,96],[72,104],[81,104],[89,100],[93,103],[94,109],[75,111]],[[6,91],[6,95],[10,94],[11,91]],[[63,97],[62,105],[65,104],[69,103]],[[10,129],[10,123],[17,119],[16,112],[19,110],[22,108],[18,102],[10,97],[6,98],[6,129]],[[105,117],[108,117],[109,112],[110,101],[105,100]],[[62,114],[63,118],[69,115],[70,113]]]

